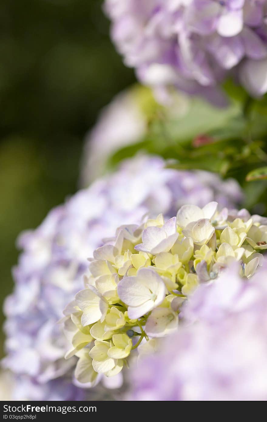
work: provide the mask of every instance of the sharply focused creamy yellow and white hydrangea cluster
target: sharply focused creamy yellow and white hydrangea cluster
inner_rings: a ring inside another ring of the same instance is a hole
[[[232,262],[251,278],[262,265],[259,251],[267,249],[266,223],[244,209],[219,212],[210,202],[184,205],[167,221],[159,214],[119,227],[94,251],[85,289],[65,310],[73,334],[66,358],[78,355],[78,381],[118,374],[144,338],[175,332],[183,302]]]

